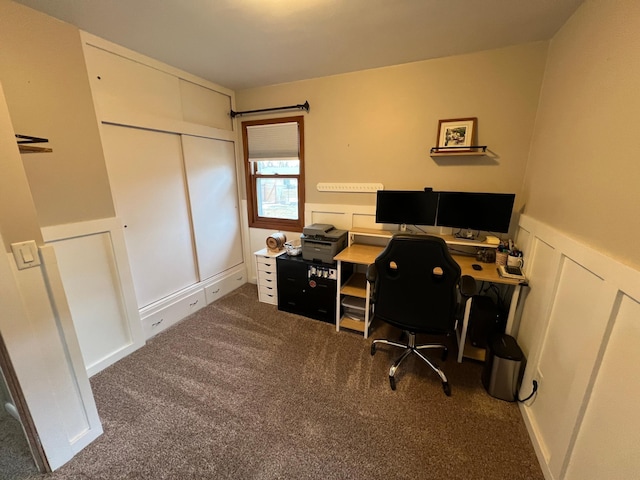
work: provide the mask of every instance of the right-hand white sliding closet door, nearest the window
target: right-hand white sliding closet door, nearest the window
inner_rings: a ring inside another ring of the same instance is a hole
[[[242,263],[234,144],[182,136],[200,280]]]

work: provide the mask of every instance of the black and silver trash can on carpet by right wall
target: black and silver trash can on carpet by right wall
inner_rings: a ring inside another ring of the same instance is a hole
[[[489,395],[507,402],[517,398],[524,355],[511,335],[495,335],[489,340],[482,370],[482,384]]]

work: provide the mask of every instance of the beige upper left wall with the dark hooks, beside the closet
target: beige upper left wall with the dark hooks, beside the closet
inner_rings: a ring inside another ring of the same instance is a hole
[[[0,0],[0,82],[15,132],[53,148],[22,155],[40,226],[112,217],[78,29]]]

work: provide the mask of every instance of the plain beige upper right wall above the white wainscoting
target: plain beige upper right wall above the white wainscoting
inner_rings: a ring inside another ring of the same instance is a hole
[[[587,0],[551,42],[527,214],[640,267],[640,2]]]

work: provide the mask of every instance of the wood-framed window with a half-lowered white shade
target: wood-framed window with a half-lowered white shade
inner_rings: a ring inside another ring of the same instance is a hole
[[[302,231],[304,118],[242,122],[249,226]]]

